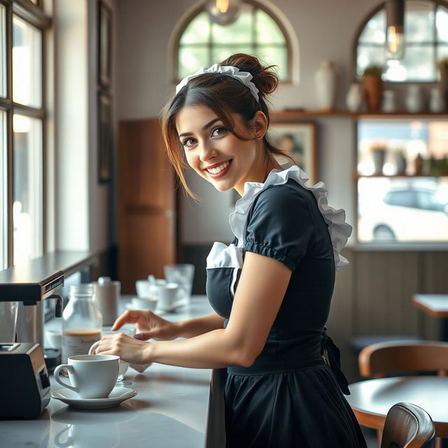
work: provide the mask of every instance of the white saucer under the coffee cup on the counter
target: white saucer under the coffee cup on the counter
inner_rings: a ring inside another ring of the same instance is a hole
[[[78,409],[104,409],[106,407],[113,407],[135,395],[137,395],[137,391],[134,389],[119,386],[112,389],[108,398],[79,398],[78,393],[68,388],[59,389],[51,393],[52,398],[61,400],[67,405],[77,407]]]

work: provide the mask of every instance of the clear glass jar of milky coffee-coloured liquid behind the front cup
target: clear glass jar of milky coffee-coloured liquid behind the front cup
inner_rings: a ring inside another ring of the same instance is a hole
[[[62,363],[72,355],[88,353],[101,339],[102,315],[94,302],[92,283],[72,285],[69,303],[62,313]]]

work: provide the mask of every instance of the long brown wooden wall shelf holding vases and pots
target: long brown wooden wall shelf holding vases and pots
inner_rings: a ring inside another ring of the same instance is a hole
[[[409,113],[405,111],[385,113],[385,112],[350,112],[350,111],[311,111],[311,110],[286,110],[276,111],[272,113],[273,120],[295,120],[299,118],[314,118],[314,117],[352,117],[352,118],[448,118],[448,112],[443,113]]]

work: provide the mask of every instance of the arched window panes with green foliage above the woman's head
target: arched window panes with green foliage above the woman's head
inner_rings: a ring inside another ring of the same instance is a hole
[[[243,3],[237,20],[230,25],[212,22],[204,8],[195,10],[183,24],[175,48],[175,78],[210,66],[226,57],[245,52],[278,66],[281,81],[290,81],[290,44],[278,18],[258,3]]]

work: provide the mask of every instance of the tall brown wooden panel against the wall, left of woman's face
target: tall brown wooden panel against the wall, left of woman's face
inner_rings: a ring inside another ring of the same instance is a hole
[[[158,119],[120,122],[118,272],[124,294],[176,259],[174,172]]]

